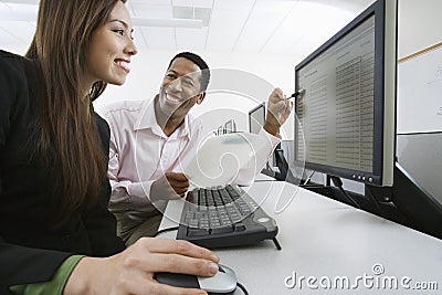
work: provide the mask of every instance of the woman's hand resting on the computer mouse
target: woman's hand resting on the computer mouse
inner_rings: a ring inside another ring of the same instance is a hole
[[[187,241],[141,238],[116,255],[84,257],[67,280],[63,295],[207,294],[178,288],[154,280],[158,272],[213,276],[219,257]]]

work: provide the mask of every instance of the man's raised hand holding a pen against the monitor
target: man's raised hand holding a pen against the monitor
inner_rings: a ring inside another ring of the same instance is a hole
[[[269,97],[264,129],[275,136],[280,131],[280,127],[287,120],[292,109],[293,102],[284,99],[283,92],[275,88]]]

